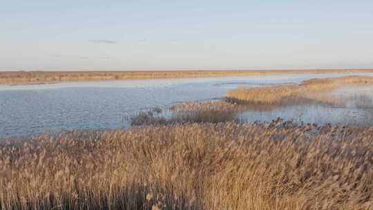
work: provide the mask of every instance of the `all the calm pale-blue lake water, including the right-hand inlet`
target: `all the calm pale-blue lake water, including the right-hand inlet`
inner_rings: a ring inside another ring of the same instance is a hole
[[[179,102],[219,99],[238,86],[300,83],[305,79],[341,75],[276,75],[183,79],[137,79],[106,82],[70,82],[32,86],[0,86],[0,137],[36,135],[70,129],[128,128],[128,116],[153,107]],[[354,74],[367,75],[373,74]],[[291,106],[275,111],[242,113],[248,122],[276,117],[298,122],[368,124],[373,88],[334,93],[356,97],[363,93],[365,107]],[[364,92],[365,91],[365,92]],[[360,97],[358,97],[360,99]],[[347,120],[346,120],[347,119]]]

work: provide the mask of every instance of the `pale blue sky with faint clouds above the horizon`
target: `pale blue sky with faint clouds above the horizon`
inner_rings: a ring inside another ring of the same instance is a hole
[[[0,70],[373,68],[373,1],[0,0]]]

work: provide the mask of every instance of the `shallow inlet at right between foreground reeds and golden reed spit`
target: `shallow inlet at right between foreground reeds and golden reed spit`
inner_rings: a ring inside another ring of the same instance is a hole
[[[334,90],[329,94],[334,100],[327,102],[300,99],[278,106],[257,106],[239,117],[245,122],[269,122],[280,117],[298,123],[373,126],[372,90],[373,86],[349,86]]]

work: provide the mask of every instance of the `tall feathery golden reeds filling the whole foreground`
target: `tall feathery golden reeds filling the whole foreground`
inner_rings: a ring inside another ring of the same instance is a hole
[[[372,209],[373,128],[173,124],[0,146],[0,209]]]

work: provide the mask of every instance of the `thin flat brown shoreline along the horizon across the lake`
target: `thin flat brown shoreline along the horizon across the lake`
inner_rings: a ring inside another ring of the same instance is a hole
[[[257,75],[305,75],[373,73],[373,69],[307,70],[157,70],[157,71],[4,71],[0,85],[52,84],[119,79],[165,79],[187,77],[229,77]]]

